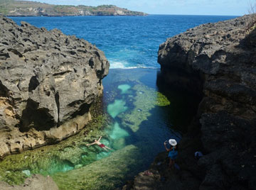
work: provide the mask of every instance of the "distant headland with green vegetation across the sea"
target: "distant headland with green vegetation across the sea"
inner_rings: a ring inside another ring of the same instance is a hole
[[[0,0],[0,14],[4,16],[146,16],[114,5],[68,6],[43,4],[34,1]]]

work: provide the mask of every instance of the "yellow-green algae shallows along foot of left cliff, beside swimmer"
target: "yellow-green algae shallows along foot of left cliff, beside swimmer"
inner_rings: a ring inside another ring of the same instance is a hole
[[[56,145],[48,145],[5,157],[0,162],[0,181],[6,181],[9,184],[23,184],[24,179],[28,177],[28,172],[24,171],[47,176],[55,172],[69,171],[80,164],[87,165],[96,161],[97,154],[102,152],[101,148],[92,147],[92,150],[88,150],[85,144],[102,135],[100,129],[102,125],[106,125],[107,118],[98,116],[93,120],[96,122],[90,122],[87,128],[80,133]],[[85,137],[83,133],[88,130],[91,132]],[[87,159],[83,159],[83,155],[87,155]]]

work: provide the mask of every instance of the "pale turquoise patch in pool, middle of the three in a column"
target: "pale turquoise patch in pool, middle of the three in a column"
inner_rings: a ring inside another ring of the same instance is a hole
[[[124,111],[127,111],[128,107],[125,106],[126,102],[124,100],[116,99],[113,104],[107,106],[107,113],[110,113],[112,118],[115,118]]]

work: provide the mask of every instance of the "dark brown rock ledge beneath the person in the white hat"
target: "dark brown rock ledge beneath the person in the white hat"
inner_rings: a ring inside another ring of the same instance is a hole
[[[169,169],[167,155],[167,152],[159,153],[148,170],[137,174],[133,181],[127,181],[117,190],[198,189],[200,181],[191,180],[188,172],[181,173],[176,167]],[[184,179],[186,183],[183,183]]]

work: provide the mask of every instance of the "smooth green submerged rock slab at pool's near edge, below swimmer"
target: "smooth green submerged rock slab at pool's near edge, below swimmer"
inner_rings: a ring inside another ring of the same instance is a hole
[[[65,173],[53,175],[53,180],[60,189],[115,189],[127,178],[137,174],[139,167],[144,167],[142,150],[134,145],[112,152],[97,162]]]

